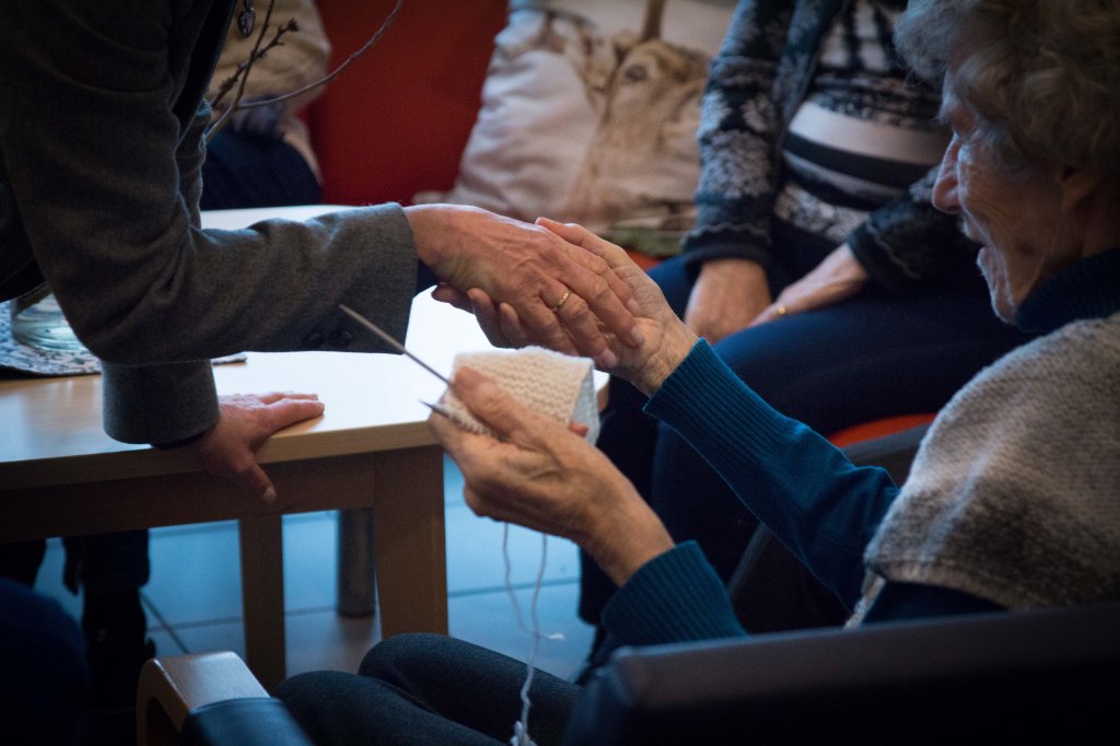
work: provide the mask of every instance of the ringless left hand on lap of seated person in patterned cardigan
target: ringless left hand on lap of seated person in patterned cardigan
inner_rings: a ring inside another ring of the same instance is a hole
[[[748,259],[713,259],[700,268],[684,323],[716,344],[750,323],[769,305],[766,270]]]

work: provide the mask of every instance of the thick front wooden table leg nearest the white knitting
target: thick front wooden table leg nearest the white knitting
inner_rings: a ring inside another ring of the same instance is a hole
[[[444,453],[438,446],[393,454],[377,470],[374,567],[381,636],[447,634]]]

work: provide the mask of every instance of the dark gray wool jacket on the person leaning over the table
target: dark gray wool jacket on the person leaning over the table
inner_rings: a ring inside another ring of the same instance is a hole
[[[6,3],[0,22],[0,155],[21,234],[106,361],[108,431],[149,442],[213,423],[212,357],[389,352],[338,305],[403,338],[417,278],[399,205],[199,229],[208,112],[189,91],[213,19],[209,3],[170,4]]]

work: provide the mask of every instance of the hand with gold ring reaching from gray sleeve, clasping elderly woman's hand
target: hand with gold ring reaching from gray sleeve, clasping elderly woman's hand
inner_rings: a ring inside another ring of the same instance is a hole
[[[476,288],[511,306],[531,343],[607,366],[615,361],[605,330],[641,344],[629,288],[595,254],[536,225],[475,207],[416,205],[405,214],[420,259],[445,283],[433,293],[438,300],[465,307],[464,295]]]

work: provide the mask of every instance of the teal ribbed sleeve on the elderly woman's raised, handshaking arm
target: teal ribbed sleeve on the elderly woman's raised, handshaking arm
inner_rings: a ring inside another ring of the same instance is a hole
[[[814,576],[855,605],[864,549],[898,494],[885,470],[852,465],[811,428],[780,414],[702,339],[645,409],[680,432]]]

